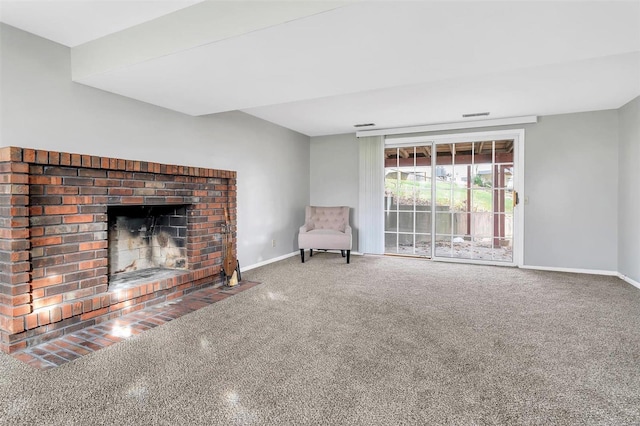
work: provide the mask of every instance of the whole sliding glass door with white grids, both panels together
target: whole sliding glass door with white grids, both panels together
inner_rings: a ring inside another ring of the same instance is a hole
[[[514,262],[513,139],[385,149],[385,252]]]

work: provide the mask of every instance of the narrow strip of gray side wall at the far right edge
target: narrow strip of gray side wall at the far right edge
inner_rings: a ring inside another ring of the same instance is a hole
[[[618,272],[640,282],[640,97],[618,110]]]

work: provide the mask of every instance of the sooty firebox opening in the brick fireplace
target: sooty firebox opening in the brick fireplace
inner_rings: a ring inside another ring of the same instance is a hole
[[[109,289],[175,276],[187,269],[187,206],[111,206]]]

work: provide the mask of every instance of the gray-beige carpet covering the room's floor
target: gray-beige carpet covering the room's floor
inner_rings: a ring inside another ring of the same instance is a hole
[[[0,354],[0,423],[640,424],[640,291],[319,253],[51,370]]]

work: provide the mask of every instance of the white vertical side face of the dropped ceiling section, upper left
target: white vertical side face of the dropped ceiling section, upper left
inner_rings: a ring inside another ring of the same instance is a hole
[[[71,49],[72,80],[327,12],[343,1],[203,1]]]

